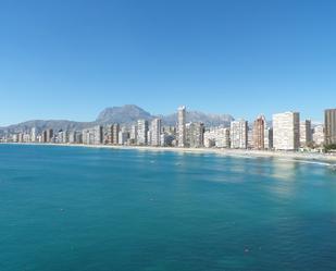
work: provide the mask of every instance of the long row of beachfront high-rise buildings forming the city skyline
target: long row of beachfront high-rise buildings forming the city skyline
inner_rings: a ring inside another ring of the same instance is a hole
[[[187,108],[177,108],[175,123],[162,125],[161,118],[132,120],[132,126],[112,120],[103,125],[91,123],[79,131],[75,127],[39,128],[33,126],[5,133],[0,143],[83,144],[107,146],[153,146],[178,148],[231,148],[272,151],[323,152],[336,148],[336,109],[326,109],[324,125],[311,126],[300,120],[300,112],[282,112],[272,116],[269,126],[259,115],[252,126],[244,119],[220,125],[204,125],[200,120],[187,122]],[[228,125],[229,124],[229,125]]]

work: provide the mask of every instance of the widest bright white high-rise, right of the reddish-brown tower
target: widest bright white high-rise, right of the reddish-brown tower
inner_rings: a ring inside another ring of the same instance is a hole
[[[300,146],[300,114],[285,112],[273,115],[273,145],[276,150],[297,150]]]

